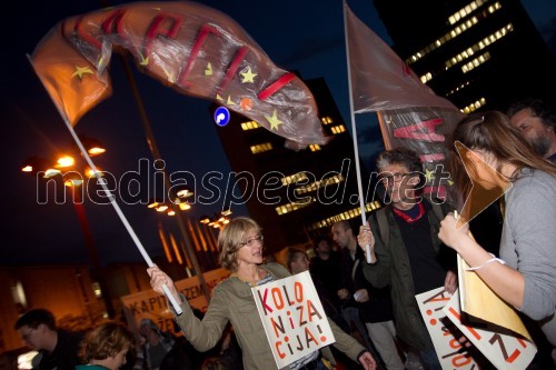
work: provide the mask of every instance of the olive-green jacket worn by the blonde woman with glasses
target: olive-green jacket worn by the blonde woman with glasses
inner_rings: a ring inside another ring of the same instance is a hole
[[[290,276],[288,270],[278,263],[264,264],[275,280]],[[277,369],[272,351],[268,344],[265,328],[259,318],[251,287],[236,277],[230,277],[220,282],[212,291],[212,298],[207,313],[199,320],[183,299],[183,312],[176,317],[181,331],[198,351],[208,351],[214,348],[222,336],[228,321],[234,326],[239,346],[244,354],[246,370]],[[350,359],[357,361],[365,348],[353,337],[346,334],[331,320],[330,327],[336,338],[336,347]],[[321,349],[322,356],[332,363],[334,357],[329,348]],[[285,368],[289,369],[289,368]]]

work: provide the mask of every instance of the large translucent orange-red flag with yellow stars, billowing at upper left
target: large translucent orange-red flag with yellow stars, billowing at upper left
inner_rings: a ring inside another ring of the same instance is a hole
[[[215,100],[296,147],[326,143],[305,83],[277,68],[228,16],[195,2],[137,2],[59,22],[31,62],[60,113],[75,126],[107,98],[112,49],[180,93]]]

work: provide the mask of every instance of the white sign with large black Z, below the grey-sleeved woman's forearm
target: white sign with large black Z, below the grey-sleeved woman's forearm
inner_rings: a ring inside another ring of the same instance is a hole
[[[497,369],[525,369],[537,353],[535,343],[504,328],[489,322],[485,322],[481,327],[463,323],[459,297],[456,294],[443,311]]]

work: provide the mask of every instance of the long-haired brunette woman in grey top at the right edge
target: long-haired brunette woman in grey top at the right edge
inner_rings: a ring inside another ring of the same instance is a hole
[[[465,158],[457,156],[456,141],[469,149]],[[556,167],[534,152],[509,119],[496,111],[464,119],[450,143],[451,173],[464,196],[471,186],[508,189],[502,259],[485,251],[468,234],[467,224],[456,228],[451,213],[441,222],[439,238],[498,297],[538,320],[556,346]]]

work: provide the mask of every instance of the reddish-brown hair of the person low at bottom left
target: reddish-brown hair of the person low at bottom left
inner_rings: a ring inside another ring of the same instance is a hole
[[[123,349],[133,348],[133,334],[117,321],[107,321],[92,329],[81,343],[85,362],[115,357]]]

